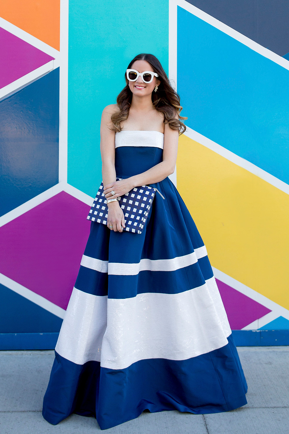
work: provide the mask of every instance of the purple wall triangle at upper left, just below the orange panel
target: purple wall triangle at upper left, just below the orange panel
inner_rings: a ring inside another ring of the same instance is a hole
[[[0,89],[54,57],[0,27]]]

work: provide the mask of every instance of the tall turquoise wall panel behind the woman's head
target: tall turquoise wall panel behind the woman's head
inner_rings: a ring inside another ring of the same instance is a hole
[[[100,122],[127,65],[152,53],[168,73],[169,1],[69,1],[68,183],[94,197],[101,183]]]

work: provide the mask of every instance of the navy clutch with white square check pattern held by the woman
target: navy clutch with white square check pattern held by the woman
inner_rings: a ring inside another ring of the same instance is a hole
[[[121,179],[122,178],[116,178],[117,181]],[[106,225],[108,207],[103,191],[104,186],[103,183],[101,183],[86,218],[87,220]],[[124,214],[124,223],[126,225],[124,230],[142,233],[156,191],[162,196],[157,188],[142,185],[141,187],[134,187],[128,193],[123,194],[123,196],[117,197]],[[164,199],[163,196],[162,198]]]

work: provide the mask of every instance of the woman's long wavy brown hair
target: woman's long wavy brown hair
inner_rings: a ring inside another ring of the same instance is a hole
[[[169,124],[173,130],[179,130],[179,134],[185,132],[185,124],[179,119],[188,119],[180,115],[182,106],[180,105],[180,97],[177,92],[170,85],[166,72],[162,68],[161,63],[153,56],[153,54],[141,53],[133,58],[127,69],[131,69],[133,62],[136,60],[146,60],[153,67],[153,72],[159,74],[158,79],[160,83],[158,85],[157,92],[152,92],[152,102],[158,112],[162,112],[164,115],[164,124]],[[124,75],[127,85],[117,95],[117,105],[119,111],[115,112],[111,116],[112,130],[115,132],[121,131],[121,122],[127,120],[130,111],[130,104],[132,101],[133,93],[128,85],[129,81],[127,75]],[[175,118],[178,115],[179,119]]]

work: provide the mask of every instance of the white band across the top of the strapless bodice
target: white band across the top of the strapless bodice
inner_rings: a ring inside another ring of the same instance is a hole
[[[119,146],[150,146],[163,149],[164,135],[159,131],[120,131],[115,133],[115,148]]]

